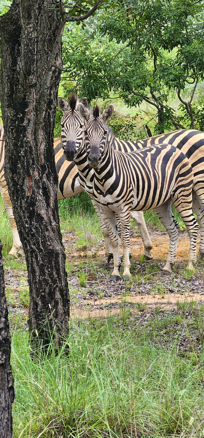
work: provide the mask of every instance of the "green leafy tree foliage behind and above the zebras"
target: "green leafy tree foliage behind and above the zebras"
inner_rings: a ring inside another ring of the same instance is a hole
[[[89,100],[113,90],[128,106],[151,105],[155,133],[201,129],[193,101],[204,72],[202,17],[203,2],[193,0],[107,2],[86,29],[65,33],[65,76]],[[172,91],[179,111],[169,100]]]

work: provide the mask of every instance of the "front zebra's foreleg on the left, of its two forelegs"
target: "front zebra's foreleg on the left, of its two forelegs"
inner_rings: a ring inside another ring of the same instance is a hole
[[[115,212],[112,212],[109,209],[104,208],[100,210],[101,216],[107,226],[109,231],[109,237],[113,249],[113,272],[111,274],[111,280],[117,281],[121,280],[119,269],[121,265],[120,256],[119,256],[119,239],[117,233],[117,225],[116,225],[116,215]]]

